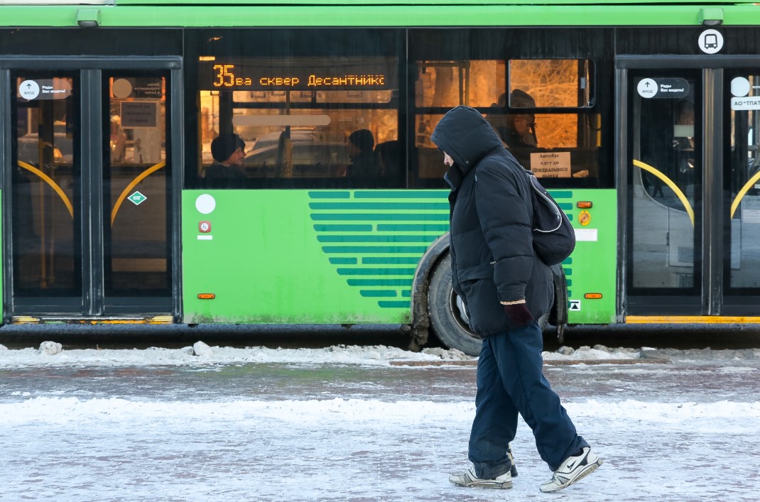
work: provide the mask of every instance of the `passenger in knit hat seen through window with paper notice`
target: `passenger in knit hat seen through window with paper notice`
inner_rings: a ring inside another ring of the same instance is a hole
[[[499,96],[499,102],[491,105],[492,109],[505,109],[506,94]],[[515,89],[509,95],[509,107],[535,108],[536,101],[524,90]],[[491,127],[499,134],[515,159],[526,169],[530,169],[530,153],[537,152],[536,115],[533,113],[489,114]]]

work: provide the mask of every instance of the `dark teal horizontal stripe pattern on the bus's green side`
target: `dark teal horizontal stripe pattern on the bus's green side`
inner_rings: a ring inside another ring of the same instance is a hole
[[[550,193],[572,221],[572,191]],[[448,232],[447,196],[444,190],[311,191],[309,217],[321,250],[349,286],[380,308],[409,309],[420,257]],[[571,265],[572,258],[562,264],[566,276]]]

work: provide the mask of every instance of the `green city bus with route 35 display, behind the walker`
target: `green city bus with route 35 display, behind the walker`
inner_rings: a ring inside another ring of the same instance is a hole
[[[401,324],[475,354],[429,140],[458,105],[572,220],[559,336],[760,320],[753,2],[11,0],[2,321]]]

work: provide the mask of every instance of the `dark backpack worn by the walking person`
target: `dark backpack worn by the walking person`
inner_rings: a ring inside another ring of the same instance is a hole
[[[570,219],[538,182],[532,171],[523,169],[530,184],[533,204],[533,250],[543,263],[561,264],[575,249],[575,230]]]

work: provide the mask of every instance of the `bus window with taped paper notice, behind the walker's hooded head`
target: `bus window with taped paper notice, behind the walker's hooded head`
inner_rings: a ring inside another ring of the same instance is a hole
[[[479,109],[518,162],[547,186],[598,185],[601,127],[600,115],[591,112],[590,60],[420,60],[416,65],[416,186],[445,188],[439,181],[445,166],[429,137],[442,113],[459,105]]]

